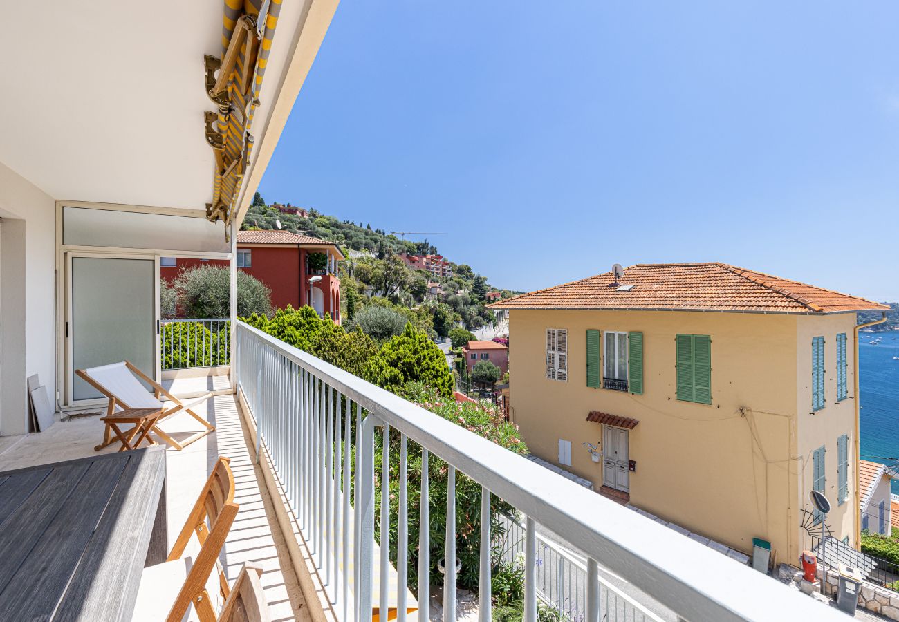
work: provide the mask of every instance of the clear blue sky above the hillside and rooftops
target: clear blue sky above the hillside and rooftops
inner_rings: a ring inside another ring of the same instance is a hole
[[[899,300],[897,22],[888,2],[345,0],[260,191],[446,232],[510,289],[721,261]]]

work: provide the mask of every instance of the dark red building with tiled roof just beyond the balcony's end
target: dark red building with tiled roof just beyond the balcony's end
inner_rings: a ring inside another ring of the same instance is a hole
[[[324,267],[313,268],[309,257],[324,254]],[[345,259],[333,242],[289,231],[238,231],[237,269],[252,274],[271,289],[272,307],[310,305],[318,315],[340,324],[340,279],[337,262]],[[182,268],[202,263],[227,266],[218,260],[163,258],[162,276],[174,280]],[[311,281],[311,282],[310,282]]]

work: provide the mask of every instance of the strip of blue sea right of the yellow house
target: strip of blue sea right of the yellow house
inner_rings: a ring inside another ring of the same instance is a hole
[[[899,360],[893,357],[899,357],[899,331],[859,333],[861,458],[899,466],[899,459],[889,459],[899,458]],[[899,494],[899,480],[893,493]]]

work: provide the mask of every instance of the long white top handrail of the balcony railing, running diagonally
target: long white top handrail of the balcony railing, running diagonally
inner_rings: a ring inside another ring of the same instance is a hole
[[[417,404],[240,320],[237,326],[324,379],[379,420],[485,485],[682,618],[845,619],[839,610],[790,590],[776,579],[559,477]]]

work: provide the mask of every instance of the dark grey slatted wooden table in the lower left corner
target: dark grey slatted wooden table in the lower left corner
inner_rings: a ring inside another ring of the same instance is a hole
[[[0,473],[0,620],[127,622],[166,546],[163,447]]]

